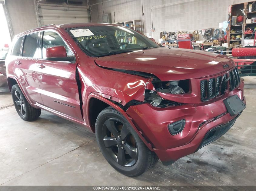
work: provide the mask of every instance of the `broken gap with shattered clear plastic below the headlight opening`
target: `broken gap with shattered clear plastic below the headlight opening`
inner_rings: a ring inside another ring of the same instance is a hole
[[[161,98],[156,91],[148,89],[145,90],[145,102],[150,103],[154,107],[170,107],[181,105],[181,103]]]

